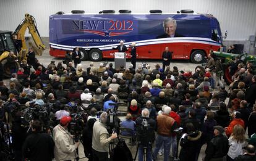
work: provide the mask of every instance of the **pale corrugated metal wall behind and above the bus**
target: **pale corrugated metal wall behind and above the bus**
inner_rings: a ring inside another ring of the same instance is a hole
[[[198,13],[213,14],[220,22],[221,30],[228,30],[229,40],[245,40],[256,35],[255,0],[0,0],[0,30],[14,31],[24,14],[35,17],[41,36],[48,36],[49,15],[59,10],[70,12],[83,9],[96,13],[103,9],[130,9],[147,13],[150,9],[176,12],[193,9]]]

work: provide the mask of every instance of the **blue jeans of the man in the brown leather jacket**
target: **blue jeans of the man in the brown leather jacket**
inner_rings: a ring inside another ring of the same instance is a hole
[[[154,159],[156,159],[156,156],[163,144],[163,146],[164,146],[164,161],[168,161],[169,152],[171,149],[171,142],[172,142],[172,138],[170,136],[162,136],[162,135],[158,134],[158,136],[156,137],[156,147],[153,152]]]

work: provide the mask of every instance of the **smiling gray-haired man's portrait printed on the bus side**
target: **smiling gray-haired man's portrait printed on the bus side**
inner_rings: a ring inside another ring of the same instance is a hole
[[[163,28],[164,34],[156,36],[157,39],[159,38],[176,38],[176,37],[183,37],[176,33],[177,22],[175,19],[168,17],[163,21]]]

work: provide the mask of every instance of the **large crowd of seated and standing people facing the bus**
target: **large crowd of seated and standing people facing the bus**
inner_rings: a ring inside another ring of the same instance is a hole
[[[80,57],[78,51],[68,54]],[[15,160],[74,160],[79,139],[70,134],[69,127],[80,112],[78,131],[89,160],[108,160],[108,144],[119,134],[132,136],[131,144],[137,141],[139,160],[143,155],[150,161],[158,155],[164,161],[170,155],[198,160],[203,144],[207,144],[205,161],[255,160],[256,75],[252,66],[233,60],[233,83],[227,90],[221,81],[220,60],[213,52],[208,55],[205,72],[197,68],[194,73],[169,64],[164,69],[159,64],[115,69],[113,64],[95,67],[93,62],[82,68],[75,62],[73,67],[72,56],[66,65],[51,61],[47,67],[35,58],[23,60],[19,71],[12,73],[9,87],[0,81],[1,139],[9,126]],[[118,117],[119,104],[126,105],[127,115],[118,127],[132,132],[117,129],[109,134],[109,111]],[[46,109],[49,120],[32,115],[24,126],[26,109]],[[177,132],[179,127],[183,130]]]

